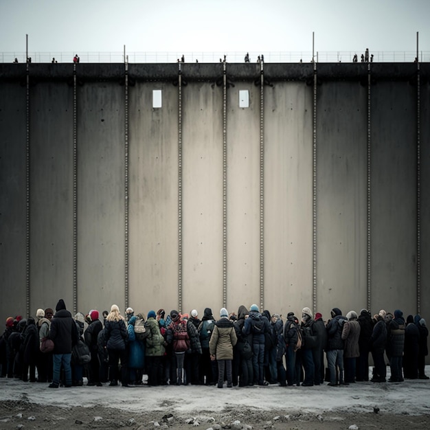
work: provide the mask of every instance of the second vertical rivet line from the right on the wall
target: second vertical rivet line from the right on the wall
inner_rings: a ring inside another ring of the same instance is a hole
[[[371,126],[371,89],[370,63],[367,64],[367,309],[372,307],[372,139]]]

